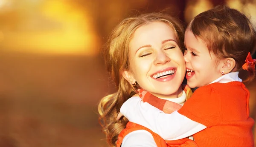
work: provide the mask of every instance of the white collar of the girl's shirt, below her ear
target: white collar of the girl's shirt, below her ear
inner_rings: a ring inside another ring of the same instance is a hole
[[[242,82],[242,79],[240,79],[238,77],[238,71],[236,72],[231,72],[231,73],[227,73],[224,74],[223,76],[219,77],[218,79],[215,79],[214,81],[212,81],[210,84],[212,83],[228,83],[228,82],[233,82],[233,81],[239,81]]]

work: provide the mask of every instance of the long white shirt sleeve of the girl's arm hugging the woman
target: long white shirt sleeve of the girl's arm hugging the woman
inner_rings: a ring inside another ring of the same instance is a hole
[[[203,124],[195,122],[177,111],[171,114],[163,113],[147,102],[142,102],[140,97],[128,99],[122,105],[120,112],[130,122],[147,127],[165,140],[182,139],[206,128]]]

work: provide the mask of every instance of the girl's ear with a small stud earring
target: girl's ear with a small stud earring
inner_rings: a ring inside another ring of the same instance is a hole
[[[221,64],[220,72],[223,74],[232,72],[233,69],[236,67],[236,61],[233,58],[221,59],[220,64]]]

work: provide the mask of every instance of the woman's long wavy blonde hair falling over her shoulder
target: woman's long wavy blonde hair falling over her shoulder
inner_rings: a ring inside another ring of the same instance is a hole
[[[99,123],[106,134],[108,145],[116,146],[119,133],[125,128],[128,119],[122,117],[116,120],[122,104],[133,96],[139,85],[132,86],[122,76],[123,71],[129,70],[129,43],[137,28],[151,22],[163,22],[175,32],[177,44],[183,47],[184,25],[179,20],[164,13],[141,14],[137,17],[129,17],[122,20],[112,31],[107,47],[103,50],[105,64],[111,79],[118,88],[116,93],[105,96],[98,105]]]

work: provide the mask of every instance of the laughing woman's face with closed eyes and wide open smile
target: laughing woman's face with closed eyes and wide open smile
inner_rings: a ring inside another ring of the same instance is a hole
[[[144,90],[161,98],[181,94],[186,65],[177,45],[174,30],[163,22],[153,22],[138,28],[130,44],[128,82],[135,81]]]

